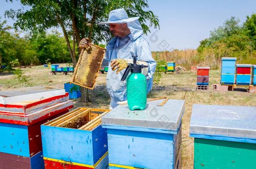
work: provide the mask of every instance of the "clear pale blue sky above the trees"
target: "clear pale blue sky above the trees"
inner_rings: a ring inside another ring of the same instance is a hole
[[[1,0],[0,16],[4,11],[20,8],[20,3]],[[152,50],[197,48],[201,40],[231,16],[246,20],[256,13],[256,0],[148,0],[149,10],[159,17],[160,30],[151,28],[146,38]],[[13,25],[13,20],[8,25]]]

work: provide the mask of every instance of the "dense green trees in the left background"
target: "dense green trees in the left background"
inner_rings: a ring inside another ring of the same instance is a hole
[[[12,28],[5,23],[0,21],[0,65],[13,67],[16,59],[22,66],[44,64],[47,59],[53,63],[71,61],[65,38],[60,33],[37,33],[20,38],[18,33],[11,33]]]

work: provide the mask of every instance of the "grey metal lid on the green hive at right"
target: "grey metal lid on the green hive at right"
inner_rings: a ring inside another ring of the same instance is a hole
[[[194,104],[190,134],[256,139],[256,107]]]

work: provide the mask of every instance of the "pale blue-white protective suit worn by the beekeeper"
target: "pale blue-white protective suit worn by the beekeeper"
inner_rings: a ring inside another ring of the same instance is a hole
[[[127,100],[126,92],[126,80],[121,81],[125,70],[116,74],[116,70],[112,71],[110,61],[113,59],[128,59],[128,63],[133,63],[132,55],[137,55],[138,61],[145,61],[149,68],[143,68],[142,73],[146,76],[147,81],[147,93],[153,86],[153,74],[156,69],[156,61],[152,58],[149,43],[146,41],[143,35],[141,24],[138,20],[127,22],[127,26],[131,31],[129,35],[130,39],[128,43],[123,46],[119,46],[119,38],[115,37],[107,44],[107,51],[104,57],[103,66],[108,65],[107,72],[107,91],[110,94],[110,109],[118,106],[118,102]],[[145,62],[138,62],[138,64]]]

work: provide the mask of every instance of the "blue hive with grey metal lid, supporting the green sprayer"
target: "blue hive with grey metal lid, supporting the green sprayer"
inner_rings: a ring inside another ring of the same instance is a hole
[[[145,110],[120,105],[102,117],[110,169],[181,169],[183,100],[150,101]]]

